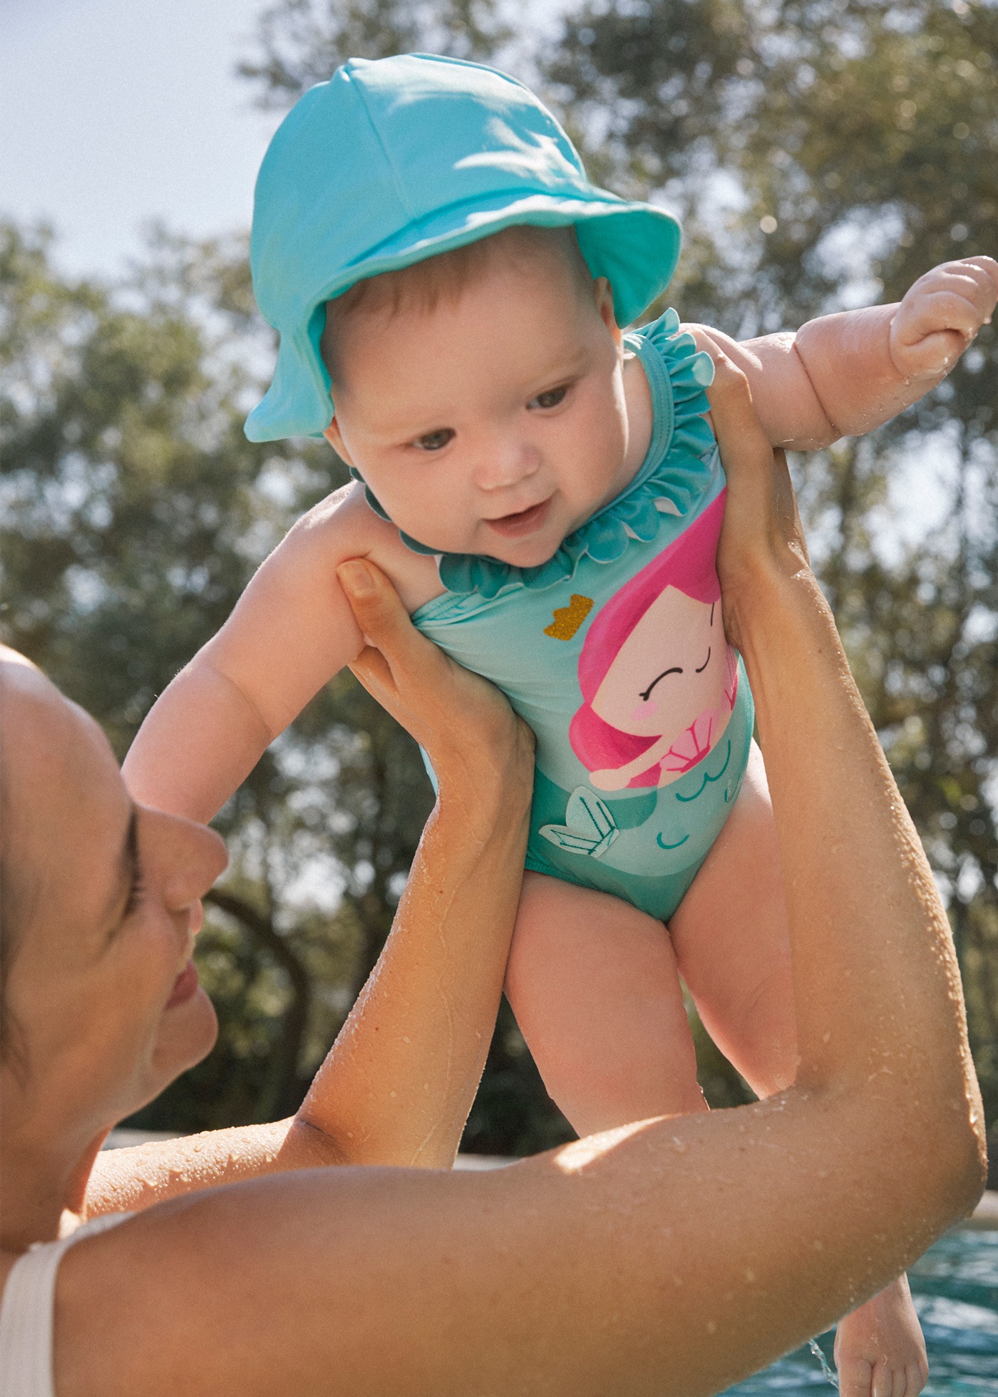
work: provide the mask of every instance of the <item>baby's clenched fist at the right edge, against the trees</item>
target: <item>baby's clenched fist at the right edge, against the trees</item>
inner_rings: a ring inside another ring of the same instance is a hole
[[[906,379],[949,373],[998,300],[998,263],[964,257],[911,286],[890,324],[890,358]]]

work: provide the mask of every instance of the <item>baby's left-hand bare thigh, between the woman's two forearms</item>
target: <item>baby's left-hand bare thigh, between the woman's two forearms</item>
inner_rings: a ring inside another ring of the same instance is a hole
[[[580,1134],[706,1111],[675,953],[653,916],[528,872],[506,993],[548,1092]]]

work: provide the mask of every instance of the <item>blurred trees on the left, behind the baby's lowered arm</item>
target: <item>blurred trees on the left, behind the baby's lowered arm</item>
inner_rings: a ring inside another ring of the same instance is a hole
[[[60,278],[45,232],[4,226],[0,296],[3,634],[122,756],[256,564],[345,472],[324,443],[242,433],[263,349],[242,240],[159,233],[108,289]],[[380,950],[431,800],[414,743],[349,675],[271,747],[217,821],[232,865],[198,963],[219,1046],[147,1125],[296,1105]]]

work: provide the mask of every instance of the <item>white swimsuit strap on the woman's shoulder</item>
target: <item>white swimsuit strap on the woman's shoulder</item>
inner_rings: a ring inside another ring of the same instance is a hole
[[[130,1213],[108,1213],[84,1222],[59,1242],[35,1242],[7,1274],[0,1303],[0,1393],[4,1397],[55,1397],[52,1312],[56,1273],[66,1252],[85,1236],[123,1222]]]

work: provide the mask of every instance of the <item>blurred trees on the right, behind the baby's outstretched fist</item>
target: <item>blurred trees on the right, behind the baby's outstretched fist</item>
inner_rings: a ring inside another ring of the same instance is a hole
[[[682,212],[670,299],[686,319],[742,337],[791,327],[900,299],[936,263],[997,250],[994,4],[584,4],[545,73],[602,177]],[[997,376],[991,328],[895,423],[795,462],[819,576],[949,895],[990,1120]],[[713,1073],[706,1053],[702,1066]]]

